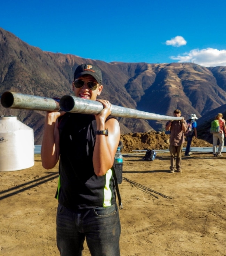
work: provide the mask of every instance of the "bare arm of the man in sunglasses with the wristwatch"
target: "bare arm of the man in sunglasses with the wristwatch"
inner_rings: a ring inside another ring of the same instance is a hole
[[[108,101],[98,100],[104,106],[100,114],[96,115],[97,130],[108,129],[108,136],[96,135],[93,153],[94,172],[97,176],[105,175],[114,163],[114,156],[120,141],[120,126],[115,118],[106,118],[111,114],[111,104]],[[106,122],[105,122],[106,121]]]

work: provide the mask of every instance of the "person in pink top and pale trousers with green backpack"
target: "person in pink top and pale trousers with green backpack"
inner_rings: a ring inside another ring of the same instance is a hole
[[[224,132],[226,134],[225,120],[223,119],[223,114],[217,114],[215,120],[211,122],[210,133],[213,134],[213,156],[222,157],[221,154],[224,147]],[[217,151],[217,142],[219,139],[219,147]]]

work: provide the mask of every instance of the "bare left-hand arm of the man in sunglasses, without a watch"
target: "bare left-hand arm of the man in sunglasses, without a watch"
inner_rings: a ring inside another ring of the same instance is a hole
[[[41,146],[42,166],[45,169],[54,168],[59,160],[59,130],[57,118],[64,113],[65,112],[46,112]]]

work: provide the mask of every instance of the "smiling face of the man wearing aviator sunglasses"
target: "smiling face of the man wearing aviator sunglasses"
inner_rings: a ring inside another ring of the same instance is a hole
[[[74,91],[74,95],[76,97],[80,97],[83,99],[91,99],[93,101],[96,101],[97,96],[100,95],[103,89],[103,85],[99,85],[96,79],[91,75],[84,75],[82,77],[77,78],[76,80],[82,80],[85,83],[81,88],[76,88],[73,85],[72,90]],[[97,88],[95,90],[90,90],[87,86],[87,82],[95,82],[97,84]]]

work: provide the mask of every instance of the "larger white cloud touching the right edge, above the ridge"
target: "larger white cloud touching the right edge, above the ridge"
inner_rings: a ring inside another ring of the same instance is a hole
[[[193,62],[204,67],[226,66],[226,50],[213,48],[194,49],[183,55],[171,56],[178,62]]]

